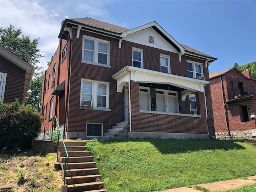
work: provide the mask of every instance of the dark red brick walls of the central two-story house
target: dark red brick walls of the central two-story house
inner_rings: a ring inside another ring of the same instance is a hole
[[[180,76],[187,76],[187,66],[186,66],[186,60],[192,60],[195,62],[203,63],[204,60],[198,60],[195,58],[189,58],[188,56],[182,56],[182,62],[178,61],[178,54],[167,52],[164,50],[135,44],[132,42],[122,41],[122,48],[118,48],[118,39],[117,38],[111,38],[108,36],[102,36],[100,34],[94,34],[88,31],[81,30],[80,31],[80,38],[76,38],[76,29],[73,28],[73,37],[72,37],[72,50],[71,50],[71,75],[70,75],[70,91],[69,91],[69,98],[68,98],[68,119],[67,119],[67,131],[68,132],[85,132],[86,123],[103,123],[104,124],[104,132],[108,129],[108,119],[110,119],[112,116],[114,116],[116,113],[118,113],[120,110],[122,110],[125,106],[122,104],[122,100],[124,99],[124,90],[122,93],[118,94],[116,92],[116,81],[113,80],[111,77],[113,74],[124,68],[125,66],[132,65],[132,47],[134,48],[140,48],[143,49],[143,61],[144,61],[144,68],[149,70],[155,70],[160,72],[160,54],[170,55],[170,65],[171,65],[171,74],[176,74]],[[91,36],[94,38],[99,38],[102,40],[107,40],[110,42],[110,66],[111,68],[102,67],[102,66],[96,66],[92,64],[86,64],[82,63],[82,41],[83,41],[83,35]],[[60,45],[59,45],[60,47]],[[64,48],[64,43],[62,43],[62,48]],[[54,56],[54,59],[57,60],[59,48],[56,51],[56,54]],[[69,41],[68,41],[68,50],[67,54],[69,53]],[[67,55],[68,58],[68,55]],[[52,62],[54,63],[54,61]],[[58,62],[57,62],[58,63]],[[67,85],[67,76],[68,76],[68,61],[63,62],[60,64],[60,80],[59,83],[62,82],[62,80],[66,80]],[[49,67],[48,71],[52,71],[52,64]],[[48,74],[48,72],[47,72]],[[57,71],[56,71],[57,74]],[[206,77],[206,80],[209,79],[208,76],[208,68],[204,68],[204,76]],[[48,76],[46,75],[46,78]],[[110,106],[109,108],[111,111],[101,111],[101,110],[85,110],[80,108],[80,89],[81,89],[81,79],[89,79],[89,80],[95,80],[95,81],[103,81],[103,82],[109,82],[110,85]],[[136,82],[138,85],[138,82]],[[138,88],[138,86],[136,86]],[[65,87],[67,90],[67,87]],[[155,96],[155,89],[151,89],[151,99],[156,98]],[[48,113],[50,108],[50,93],[47,93],[48,95],[45,96],[45,104],[46,101],[48,101]],[[139,89],[133,89],[132,95],[133,97],[139,94]],[[56,97],[56,96],[54,96]],[[139,98],[139,97],[138,97]],[[139,100],[135,99],[132,100],[132,116],[139,112]],[[187,96],[186,100],[184,102],[181,101],[180,93],[178,94],[179,103],[182,106],[182,109],[180,110],[180,113],[186,113],[190,114],[190,104],[189,104],[189,97]],[[200,102],[199,100],[203,99],[203,102]],[[64,110],[64,103],[66,100],[66,96],[64,99],[60,100],[60,103],[58,103],[58,110],[57,110],[57,117],[61,118],[63,115],[61,112]],[[175,126],[177,125],[178,129],[182,129],[181,132],[196,132],[196,133],[205,133],[207,134],[207,123],[206,123],[206,114],[205,114],[205,104],[204,104],[204,93],[200,92],[197,93],[196,101],[198,102],[198,109],[201,110],[202,118],[191,118],[191,117],[180,117],[180,116],[172,116],[172,123],[173,121],[177,120],[179,122],[175,123]],[[62,102],[62,104],[61,104]],[[136,104],[137,102],[137,104]],[[210,102],[210,100],[208,100]],[[60,110],[61,109],[61,110]],[[154,109],[152,109],[154,110]],[[140,114],[140,117],[144,119],[144,115]],[[148,116],[151,116],[152,114],[148,114]],[[160,115],[161,116],[161,115]],[[162,115],[164,117],[164,120],[170,121],[170,116]],[[138,116],[139,117],[139,116]],[[133,125],[135,126],[135,130],[142,129],[141,126],[137,126],[139,124],[139,120],[135,119],[133,121]],[[134,117],[135,118],[135,117]],[[48,120],[48,119],[47,119]],[[114,126],[117,122],[122,122],[124,120],[124,112],[117,115],[112,121],[111,126]],[[146,119],[144,119],[146,120]],[[184,126],[184,122],[192,121],[192,126],[189,128],[187,126]],[[49,120],[48,120],[49,121]],[[164,122],[165,122],[164,121]],[[149,122],[147,122],[148,125]],[[159,122],[158,122],[159,123]],[[169,122],[170,124],[170,122]],[[200,125],[199,125],[200,124]],[[159,125],[158,125],[159,126]],[[146,126],[145,126],[146,127]],[[162,127],[164,125],[162,124]],[[183,127],[183,128],[181,128]],[[193,129],[193,128],[194,129]],[[177,131],[178,131],[177,129]],[[193,129],[193,130],[192,130]],[[159,130],[161,131],[161,130]]]

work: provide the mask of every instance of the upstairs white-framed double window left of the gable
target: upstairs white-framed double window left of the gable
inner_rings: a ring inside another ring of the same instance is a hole
[[[82,60],[109,65],[109,42],[85,36]]]

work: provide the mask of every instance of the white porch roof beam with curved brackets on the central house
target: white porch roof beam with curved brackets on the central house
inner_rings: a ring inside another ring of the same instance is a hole
[[[204,92],[204,85],[209,83],[209,81],[206,80],[167,74],[134,66],[126,66],[112,75],[112,78],[117,82],[117,92],[122,92],[123,86],[129,81],[129,73],[131,74],[130,80],[134,82],[169,84],[192,92]]]

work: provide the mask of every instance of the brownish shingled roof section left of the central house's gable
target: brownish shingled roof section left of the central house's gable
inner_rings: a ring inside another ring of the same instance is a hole
[[[88,17],[86,17],[86,18],[75,18],[75,19],[70,19],[70,20],[80,22],[80,23],[83,23],[83,24],[86,24],[86,25],[94,26],[94,27],[97,27],[97,28],[103,28],[105,30],[112,31],[112,32],[122,33],[122,32],[125,32],[125,31],[129,30],[129,29],[124,28],[124,27],[112,25],[112,24],[105,23],[105,22],[102,22],[102,21],[98,21],[98,20],[95,20],[95,19],[91,19],[91,18],[88,18]]]

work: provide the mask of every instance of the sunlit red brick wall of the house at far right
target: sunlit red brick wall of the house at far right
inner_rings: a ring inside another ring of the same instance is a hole
[[[222,84],[221,78],[223,82],[224,88],[224,97],[222,96]],[[212,95],[212,104],[213,104],[213,114],[214,114],[214,126],[216,132],[227,132],[228,126],[226,123],[225,116],[225,108],[224,101],[228,100],[228,91],[231,91],[230,82],[234,82],[234,89],[238,89],[238,82],[243,82],[244,87],[252,86],[254,88],[254,84],[256,84],[256,80],[248,79],[244,77],[240,72],[236,69],[230,70],[225,73],[222,77],[216,77],[210,80],[210,88]],[[248,98],[247,100],[238,100],[236,103],[228,102],[226,104],[227,115],[228,115],[228,124],[230,128],[230,132],[232,131],[244,131],[255,129],[255,120],[251,120],[249,122],[243,122],[242,116],[242,106],[247,105],[251,108],[251,113],[254,114],[256,112],[256,102],[254,98]]]

